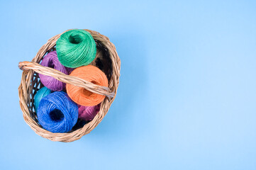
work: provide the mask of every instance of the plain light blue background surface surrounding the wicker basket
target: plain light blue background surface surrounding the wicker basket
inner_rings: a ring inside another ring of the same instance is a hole
[[[1,1],[0,169],[256,169],[256,1]],[[21,70],[88,28],[121,57],[118,95],[82,139],[26,125]]]

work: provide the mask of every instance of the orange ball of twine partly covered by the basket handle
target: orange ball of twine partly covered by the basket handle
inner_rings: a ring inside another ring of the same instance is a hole
[[[108,79],[104,72],[95,66],[87,65],[74,69],[70,76],[79,77],[81,79],[90,81],[93,84],[100,86],[108,86]],[[74,86],[72,84],[67,84],[66,86],[67,94],[72,101],[81,106],[96,106],[101,103],[106,96],[101,94],[94,94],[82,87]]]

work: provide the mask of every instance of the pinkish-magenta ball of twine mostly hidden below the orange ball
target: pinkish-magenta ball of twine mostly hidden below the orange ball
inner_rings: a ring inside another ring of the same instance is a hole
[[[99,113],[101,103],[96,106],[78,106],[78,118],[83,120],[93,120],[95,115]]]

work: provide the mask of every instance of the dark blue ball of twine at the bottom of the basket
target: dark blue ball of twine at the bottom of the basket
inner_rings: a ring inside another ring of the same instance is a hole
[[[38,106],[38,122],[50,132],[69,132],[77,123],[78,106],[65,92],[55,91],[42,98]]]

